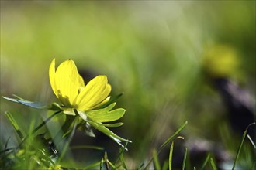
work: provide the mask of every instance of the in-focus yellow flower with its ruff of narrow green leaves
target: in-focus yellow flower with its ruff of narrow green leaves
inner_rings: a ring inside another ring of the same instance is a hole
[[[111,86],[109,85],[106,76],[96,76],[85,85],[73,60],[68,59],[64,61],[56,69],[55,59],[53,59],[50,63],[49,77],[50,86],[56,97],[61,101],[61,105],[55,102],[46,105],[41,102],[24,100],[17,96],[15,96],[16,98],[3,98],[36,109],[56,111],[47,119],[48,121],[58,113],[63,112],[64,114],[67,114],[64,125],[61,128],[61,132],[63,131],[65,135],[70,132],[71,127],[73,130],[79,128],[82,131],[85,131],[88,135],[94,135],[91,129],[91,127],[93,127],[109,136],[109,138],[112,138],[125,149],[126,147],[123,146],[121,142],[132,142],[119,137],[109,130],[109,128],[123,125],[122,122],[105,124],[105,122],[119,120],[119,118],[123,117],[126,111],[123,108],[114,109],[116,100],[122,93],[109,100]],[[69,115],[73,115],[74,117]],[[77,126],[78,124],[79,127]]]

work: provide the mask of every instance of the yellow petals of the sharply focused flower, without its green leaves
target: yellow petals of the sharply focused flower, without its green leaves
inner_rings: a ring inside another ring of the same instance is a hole
[[[63,104],[64,114],[75,115],[74,109],[87,111],[109,101],[111,86],[106,76],[96,76],[85,86],[74,61],[68,59],[55,70],[55,59],[50,63],[50,85]]]

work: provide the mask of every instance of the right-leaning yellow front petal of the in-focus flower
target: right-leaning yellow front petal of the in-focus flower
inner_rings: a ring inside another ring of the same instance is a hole
[[[111,86],[108,84],[107,77],[96,76],[81,90],[75,104],[77,104],[78,110],[90,110],[106,100],[110,91]]]

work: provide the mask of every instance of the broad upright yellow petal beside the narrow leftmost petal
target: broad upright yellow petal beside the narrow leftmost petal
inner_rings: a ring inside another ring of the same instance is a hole
[[[55,86],[57,97],[66,107],[71,107],[78,96],[80,87],[78,69],[71,59],[58,66],[55,73]]]

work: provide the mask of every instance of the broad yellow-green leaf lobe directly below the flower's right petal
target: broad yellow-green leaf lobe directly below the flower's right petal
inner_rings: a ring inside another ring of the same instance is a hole
[[[108,121],[116,121],[119,118],[123,117],[126,110],[123,108],[118,108],[116,110],[111,110],[115,107],[116,103],[110,104],[108,107],[99,110],[89,110],[85,112],[90,119],[96,122],[108,122]]]

